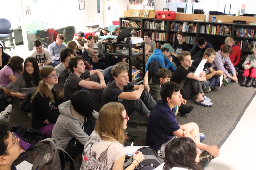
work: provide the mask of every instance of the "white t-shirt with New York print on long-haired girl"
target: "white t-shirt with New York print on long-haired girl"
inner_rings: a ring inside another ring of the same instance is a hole
[[[114,161],[125,155],[119,142],[102,140],[94,130],[84,146],[80,170],[112,169]]]

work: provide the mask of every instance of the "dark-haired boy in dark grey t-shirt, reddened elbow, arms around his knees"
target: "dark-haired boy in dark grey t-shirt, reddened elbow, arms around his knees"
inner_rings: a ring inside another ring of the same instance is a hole
[[[100,103],[103,92],[102,89],[106,87],[103,74],[97,70],[86,71],[83,57],[81,56],[70,58],[68,65],[71,73],[64,84],[65,101],[70,100],[70,97],[75,92],[79,90],[86,90],[90,92]],[[92,78],[90,81],[85,80],[91,76]]]

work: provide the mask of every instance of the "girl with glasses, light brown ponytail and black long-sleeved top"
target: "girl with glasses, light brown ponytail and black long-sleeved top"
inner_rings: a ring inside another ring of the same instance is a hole
[[[51,137],[53,123],[56,122],[59,113],[58,98],[53,89],[58,83],[59,73],[51,66],[44,66],[39,74],[42,80],[31,97],[32,128]]]

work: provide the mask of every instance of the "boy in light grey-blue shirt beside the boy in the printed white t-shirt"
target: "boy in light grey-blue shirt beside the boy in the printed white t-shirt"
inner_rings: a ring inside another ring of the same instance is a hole
[[[64,35],[58,34],[56,41],[54,41],[52,44],[48,46],[48,51],[51,53],[52,61],[54,63],[60,63],[60,51],[66,47],[65,44],[62,44],[64,40]]]

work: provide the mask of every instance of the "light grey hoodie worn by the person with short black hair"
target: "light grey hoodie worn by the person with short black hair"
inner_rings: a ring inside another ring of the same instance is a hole
[[[71,115],[70,108],[70,100],[59,105],[59,111],[61,114],[52,130],[52,138],[60,139],[60,146],[64,149],[68,146],[68,143],[73,137],[83,145],[85,145],[89,138],[89,136],[84,132],[84,118],[78,113]]]

